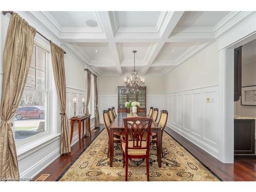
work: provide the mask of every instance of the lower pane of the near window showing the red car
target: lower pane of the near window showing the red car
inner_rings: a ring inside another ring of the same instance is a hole
[[[20,141],[47,131],[45,118],[47,93],[24,91],[19,108],[15,113],[15,140]]]

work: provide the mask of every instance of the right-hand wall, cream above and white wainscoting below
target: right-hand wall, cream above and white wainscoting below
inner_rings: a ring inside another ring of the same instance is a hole
[[[215,43],[165,76],[164,106],[168,106],[170,129],[220,159],[218,70]],[[214,102],[206,102],[207,98]]]

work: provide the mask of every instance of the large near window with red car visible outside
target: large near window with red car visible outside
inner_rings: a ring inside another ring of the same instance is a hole
[[[22,141],[49,133],[49,52],[34,46],[27,82],[14,115],[14,138]]]

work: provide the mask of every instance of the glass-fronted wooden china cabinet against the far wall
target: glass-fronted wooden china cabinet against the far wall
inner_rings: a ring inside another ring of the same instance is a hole
[[[138,101],[140,108],[137,112],[146,113],[146,87],[140,87],[135,94],[128,92],[128,87],[118,87],[118,113],[130,113],[130,110],[125,108],[126,101]]]

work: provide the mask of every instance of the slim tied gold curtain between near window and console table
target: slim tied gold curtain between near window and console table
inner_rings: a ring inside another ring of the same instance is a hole
[[[64,66],[64,51],[60,47],[55,45],[52,41],[50,42],[50,45],[53,75],[61,115],[60,154],[67,154],[71,152],[71,146],[69,136],[69,121],[66,115],[66,77]]]

